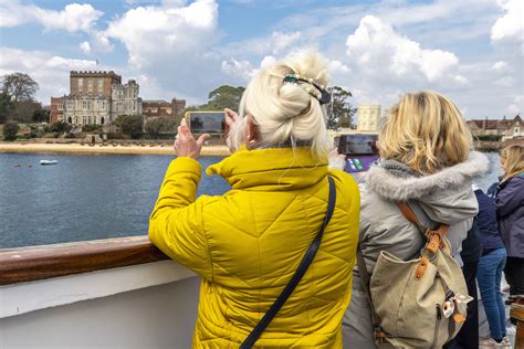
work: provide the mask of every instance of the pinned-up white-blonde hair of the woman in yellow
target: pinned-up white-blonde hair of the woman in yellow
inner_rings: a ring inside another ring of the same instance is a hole
[[[245,88],[240,101],[242,117],[230,133],[233,149],[245,141],[247,115],[252,115],[259,127],[255,147],[281,147],[296,142],[308,146],[319,159],[326,158],[331,141],[326,129],[326,109],[304,88],[284,84],[286,74],[300,74],[327,85],[325,60],[316,52],[298,52],[259,72]]]

